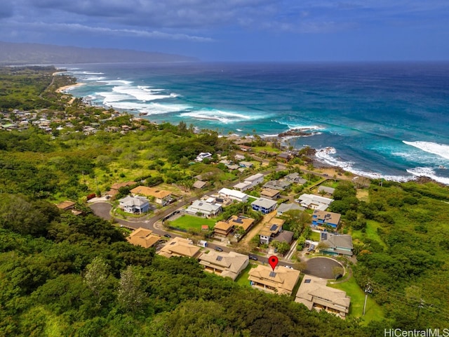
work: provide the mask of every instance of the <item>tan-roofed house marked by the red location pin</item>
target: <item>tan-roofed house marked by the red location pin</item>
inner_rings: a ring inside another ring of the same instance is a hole
[[[272,270],[269,265],[257,265],[249,271],[251,286],[255,289],[269,293],[291,295],[298,279],[300,271],[278,265]]]

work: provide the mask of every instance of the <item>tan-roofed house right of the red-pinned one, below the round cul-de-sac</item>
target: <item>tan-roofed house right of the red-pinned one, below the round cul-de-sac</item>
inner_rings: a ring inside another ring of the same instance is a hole
[[[326,310],[345,318],[349,313],[351,298],[346,295],[346,291],[330,288],[326,284],[326,279],[304,275],[295,302],[304,304],[309,310]]]

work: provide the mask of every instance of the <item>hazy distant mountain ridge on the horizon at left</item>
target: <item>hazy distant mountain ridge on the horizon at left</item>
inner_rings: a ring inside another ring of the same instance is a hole
[[[15,44],[0,41],[0,65],[54,65],[108,62],[187,62],[184,55],[114,48],[81,48],[51,44]]]

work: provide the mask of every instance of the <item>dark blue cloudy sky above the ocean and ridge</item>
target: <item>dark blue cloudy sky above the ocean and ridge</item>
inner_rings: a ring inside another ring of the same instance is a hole
[[[201,60],[449,60],[448,0],[2,0],[0,41]]]

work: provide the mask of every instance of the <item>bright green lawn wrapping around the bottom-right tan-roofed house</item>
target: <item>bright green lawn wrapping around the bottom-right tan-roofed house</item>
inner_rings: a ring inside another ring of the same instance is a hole
[[[351,307],[349,308],[349,317],[362,317],[363,315],[363,303],[365,302],[365,292],[358,286],[356,279],[351,277],[347,282],[339,284],[328,284],[332,288],[346,291],[347,296],[351,297]],[[375,303],[373,298],[368,295],[366,301],[366,310],[364,324],[368,324],[373,320],[380,320],[384,318],[384,312],[380,305]]]

